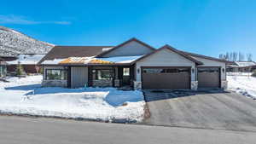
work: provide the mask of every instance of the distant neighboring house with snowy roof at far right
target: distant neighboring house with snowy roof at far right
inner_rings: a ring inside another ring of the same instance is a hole
[[[235,65],[228,65],[227,72],[253,72],[256,70],[254,61],[235,61]]]

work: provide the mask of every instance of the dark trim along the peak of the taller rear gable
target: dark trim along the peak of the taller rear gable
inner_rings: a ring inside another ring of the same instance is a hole
[[[131,39],[129,39],[128,41],[125,41],[125,43],[120,43],[119,45],[113,47],[112,49],[109,49],[108,51],[105,51],[103,52],[102,54],[100,55],[96,55],[96,57],[102,57],[103,55],[107,55],[108,53],[112,52],[114,49],[118,49],[119,47],[122,47],[124,46],[126,43],[130,43],[132,41],[135,41],[137,43],[140,43],[142,44],[143,46],[147,47],[148,49],[151,49],[151,50],[155,50],[153,47],[151,47],[150,45],[148,45],[147,43],[143,43],[142,41],[138,40],[137,38],[133,37]]]

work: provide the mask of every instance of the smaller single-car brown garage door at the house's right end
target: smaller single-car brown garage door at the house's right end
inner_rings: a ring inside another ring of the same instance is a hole
[[[219,67],[198,68],[198,88],[219,88]]]

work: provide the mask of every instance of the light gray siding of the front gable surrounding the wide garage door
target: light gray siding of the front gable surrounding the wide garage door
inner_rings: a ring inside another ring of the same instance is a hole
[[[195,69],[195,62],[178,55],[170,49],[162,49],[136,63],[136,80],[141,82],[142,66],[189,66]],[[139,69],[139,70],[138,70]],[[138,73],[139,72],[139,73]],[[195,72],[191,72],[191,81],[195,81]]]

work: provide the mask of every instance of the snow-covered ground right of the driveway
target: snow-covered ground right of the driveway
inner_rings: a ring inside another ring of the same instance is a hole
[[[256,78],[251,76],[227,76],[228,89],[256,100]]]

